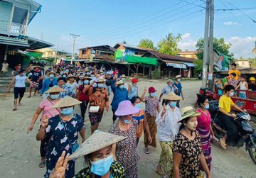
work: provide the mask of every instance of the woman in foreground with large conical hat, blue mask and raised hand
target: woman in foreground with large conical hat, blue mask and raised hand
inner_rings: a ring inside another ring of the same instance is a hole
[[[65,157],[63,152],[50,178],[63,178],[68,160],[82,156],[85,157],[87,167],[75,174],[76,178],[124,178],[124,167],[114,160],[113,155],[114,144],[124,139],[123,136],[95,130],[73,155]]]

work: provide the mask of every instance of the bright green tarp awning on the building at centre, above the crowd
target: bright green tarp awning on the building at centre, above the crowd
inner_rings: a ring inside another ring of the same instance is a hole
[[[144,65],[157,65],[156,58],[150,57],[139,57],[134,55],[126,55],[125,61],[134,64],[144,64]]]

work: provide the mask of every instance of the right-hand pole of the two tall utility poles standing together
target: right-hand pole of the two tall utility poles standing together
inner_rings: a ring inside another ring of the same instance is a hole
[[[213,81],[213,63],[214,63],[214,53],[213,53],[213,21],[214,21],[214,0],[210,0],[210,38],[209,38],[209,77],[208,85],[209,89],[213,91],[214,81]]]

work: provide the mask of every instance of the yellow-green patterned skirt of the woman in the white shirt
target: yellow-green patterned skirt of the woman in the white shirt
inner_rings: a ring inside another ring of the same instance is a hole
[[[159,164],[161,165],[161,169],[167,177],[173,177],[173,142],[162,142],[161,145],[161,155]]]

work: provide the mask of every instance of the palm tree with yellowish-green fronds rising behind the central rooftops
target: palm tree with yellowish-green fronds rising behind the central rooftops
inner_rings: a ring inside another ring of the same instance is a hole
[[[178,33],[177,36],[174,36],[172,33],[166,35],[166,38],[163,38],[158,43],[159,52],[166,55],[177,55],[181,49],[178,48],[178,42],[181,40],[181,34]]]

